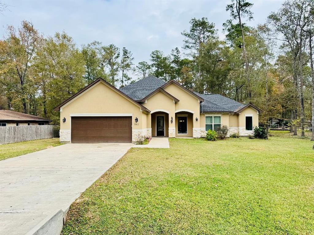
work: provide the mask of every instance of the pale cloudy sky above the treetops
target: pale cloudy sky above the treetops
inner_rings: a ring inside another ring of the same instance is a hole
[[[65,31],[80,47],[94,40],[104,45],[126,47],[134,62],[149,62],[153,50],[165,55],[181,49],[181,32],[189,29],[191,18],[207,17],[224,39],[222,24],[228,19],[226,5],[230,1],[3,1],[8,10],[0,14],[0,37],[7,25],[19,26],[25,19],[45,36]],[[254,20],[248,25],[264,23],[282,0],[256,0]]]

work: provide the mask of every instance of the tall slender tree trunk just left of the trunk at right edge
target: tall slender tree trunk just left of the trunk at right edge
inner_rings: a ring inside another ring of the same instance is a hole
[[[301,136],[304,137],[304,97],[303,97],[303,58],[302,58],[302,29],[300,32],[300,52],[299,52],[299,100],[300,100],[300,119]]]

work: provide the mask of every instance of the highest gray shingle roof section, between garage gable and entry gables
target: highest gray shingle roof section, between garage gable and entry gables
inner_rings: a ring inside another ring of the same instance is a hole
[[[157,77],[148,76],[130,85],[124,86],[119,90],[133,100],[141,100],[165,83],[165,81]]]

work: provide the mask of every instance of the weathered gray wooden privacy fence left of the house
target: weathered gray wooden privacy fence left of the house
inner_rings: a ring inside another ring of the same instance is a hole
[[[0,127],[0,144],[53,138],[56,133],[53,125]]]

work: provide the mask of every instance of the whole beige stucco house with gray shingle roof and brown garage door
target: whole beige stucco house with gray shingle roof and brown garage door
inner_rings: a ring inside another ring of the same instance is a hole
[[[206,136],[221,125],[229,134],[252,134],[261,110],[227,97],[192,92],[176,81],[148,76],[120,90],[99,78],[62,102],[60,141],[71,143],[135,142],[146,137]]]

